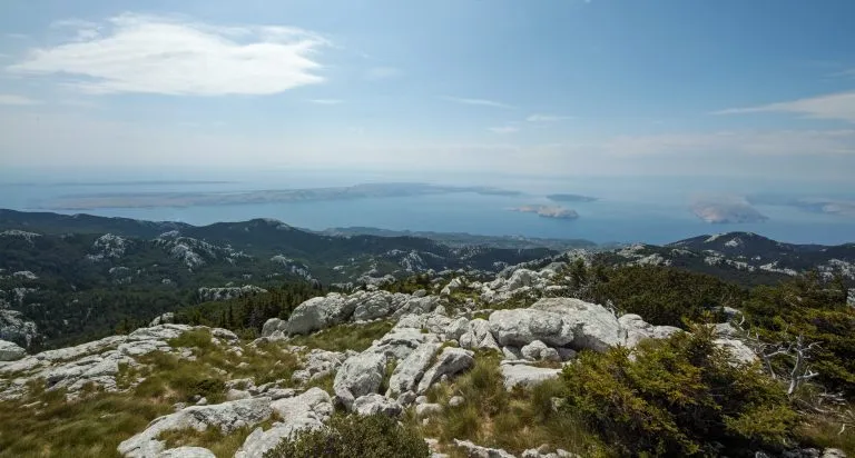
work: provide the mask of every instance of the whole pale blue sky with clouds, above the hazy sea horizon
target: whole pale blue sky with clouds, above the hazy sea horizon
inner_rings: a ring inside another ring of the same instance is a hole
[[[824,180],[851,0],[8,0],[0,168]]]

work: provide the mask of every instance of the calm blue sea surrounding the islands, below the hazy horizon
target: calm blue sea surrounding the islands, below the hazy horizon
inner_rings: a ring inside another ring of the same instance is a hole
[[[520,196],[448,193],[354,200],[196,206],[184,208],[95,208],[69,211],[50,207],[67,196],[139,192],[239,192],[353,186],[363,182],[430,182],[494,186]],[[392,230],[469,232],[487,236],[587,239],[597,243],[667,243],[727,231],[750,231],[779,241],[837,245],[855,241],[855,218],[809,212],[787,206],[756,206],[769,219],[756,223],[711,225],[689,208],[698,196],[750,192],[790,197],[843,196],[845,185],[776,180],[684,177],[530,177],[454,173],[328,170],[63,170],[0,171],[0,208],[22,211],[86,212],[155,221],[209,225],[274,218],[291,226],[322,230],[374,227]],[[549,193],[598,198],[590,202],[552,202]],[[561,205],[574,220],[510,211],[525,205]]]

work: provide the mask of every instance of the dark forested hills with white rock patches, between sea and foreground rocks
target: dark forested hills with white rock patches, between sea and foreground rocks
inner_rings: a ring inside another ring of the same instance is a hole
[[[749,232],[606,248],[371,228],[313,232],[274,219],[191,226],[0,210],[0,333],[31,341],[38,329],[61,344],[104,335],[124,318],[286,283],[351,289],[454,271],[484,278],[579,257],[605,266],[669,266],[743,286],[816,270],[855,287],[855,243],[783,243]]]

